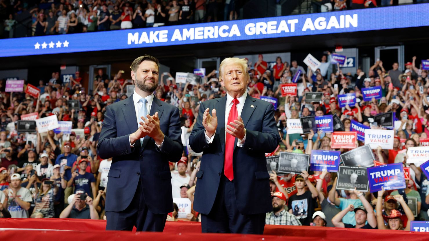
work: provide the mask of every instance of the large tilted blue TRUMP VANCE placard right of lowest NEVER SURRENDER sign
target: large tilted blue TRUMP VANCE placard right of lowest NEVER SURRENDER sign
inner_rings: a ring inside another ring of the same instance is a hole
[[[384,190],[405,188],[405,176],[402,163],[368,167],[369,190],[378,192]]]

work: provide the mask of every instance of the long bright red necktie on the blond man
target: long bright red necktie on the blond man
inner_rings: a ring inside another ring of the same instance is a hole
[[[230,110],[230,115],[228,116],[228,122],[227,126],[230,124],[230,122],[234,122],[237,119],[237,116],[239,115],[237,111],[237,104],[240,103],[239,100],[233,99],[233,106]],[[225,128],[227,128],[225,126]],[[226,133],[227,138],[225,140],[225,169],[224,174],[232,181],[234,179],[234,170],[233,170],[233,155],[234,155],[234,142],[236,140],[236,137],[233,137],[232,135]]]

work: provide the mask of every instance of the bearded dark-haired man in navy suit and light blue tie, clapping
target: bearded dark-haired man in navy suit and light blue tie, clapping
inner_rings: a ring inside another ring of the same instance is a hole
[[[169,161],[183,152],[179,111],[158,100],[158,60],[131,65],[136,90],[106,108],[97,153],[113,158],[106,187],[107,230],[162,232],[173,211]]]

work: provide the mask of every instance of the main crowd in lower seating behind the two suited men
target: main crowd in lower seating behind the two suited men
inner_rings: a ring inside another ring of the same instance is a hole
[[[406,161],[406,150],[422,144],[420,138],[427,138],[429,134],[429,77],[426,70],[416,65],[416,59],[413,57],[412,62],[405,64],[405,71],[399,70],[398,63],[390,68],[377,61],[367,73],[358,69],[354,75],[343,73],[339,65],[331,64],[329,51],[314,72],[298,65],[296,60],[289,64],[280,57],[269,68],[262,54],[255,64],[248,66],[248,94],[278,100],[274,117],[281,142],[278,149],[267,156],[333,150],[332,133],[288,134],[287,119],[336,114],[344,123],[344,130],[350,131],[351,120],[381,128],[375,125],[374,116],[393,111],[393,150],[372,149],[374,161],[402,163],[410,168],[405,189],[377,193],[338,190],[337,173],[326,170],[303,171],[298,175],[277,175],[270,171],[273,211],[266,214],[266,224],[409,230],[412,220],[429,220],[429,181],[419,167]],[[279,85],[290,83],[297,71],[302,72],[298,94],[281,97]],[[69,83],[62,83],[59,74],[54,72],[49,80],[39,81],[38,98],[24,92],[4,92],[5,81],[0,81],[0,211],[3,217],[105,217],[104,200],[112,158],[102,160],[96,149],[106,107],[127,98],[126,86],[133,85],[123,73],[118,71],[109,76],[98,70],[87,92],[79,72]],[[177,164],[170,163],[175,200],[193,202],[201,153],[193,152],[187,143],[198,118],[199,104],[226,93],[216,74],[213,70],[202,77],[201,83],[192,85],[176,83],[170,73],[163,73],[155,90],[158,99],[177,106],[181,115],[184,152]],[[362,89],[370,86],[381,86],[383,97],[363,101]],[[323,92],[322,100],[307,103],[306,92]],[[353,92],[359,98],[356,106],[340,108],[337,96]],[[69,107],[70,100],[79,101],[79,109]],[[83,130],[82,134],[53,130],[36,135],[17,132],[17,121],[28,113],[37,113],[39,118],[55,115],[59,121],[71,121],[73,129]],[[363,144],[357,142],[358,146]],[[415,214],[407,202],[411,197],[417,199]],[[174,209],[168,221],[199,220],[199,214],[193,210],[183,216],[179,215],[176,203]]]

